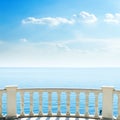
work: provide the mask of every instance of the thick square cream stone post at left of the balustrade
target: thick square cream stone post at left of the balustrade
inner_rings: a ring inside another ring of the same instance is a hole
[[[7,117],[16,117],[16,90],[17,86],[7,86]]]

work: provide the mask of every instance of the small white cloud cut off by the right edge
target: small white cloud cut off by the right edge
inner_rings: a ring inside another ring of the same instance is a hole
[[[106,23],[120,24],[120,13],[115,13],[115,14],[107,13],[105,14],[104,21]]]

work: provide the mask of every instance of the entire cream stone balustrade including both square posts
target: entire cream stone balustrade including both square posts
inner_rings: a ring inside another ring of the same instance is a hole
[[[29,95],[29,104],[25,102],[25,94]],[[43,94],[47,93],[47,102],[48,102],[48,112],[44,113],[43,109]],[[56,107],[57,112],[52,112],[52,94],[56,93]],[[61,111],[61,95],[64,93],[66,95],[66,113],[62,113]],[[71,106],[71,93],[74,93],[75,99],[75,106]],[[80,95],[84,94],[84,103],[85,103],[85,112],[81,113],[80,111],[80,103],[82,104]],[[4,103],[3,95],[6,94],[6,103]],[[37,94],[37,97],[33,97],[34,94]],[[89,100],[90,94],[94,97],[94,113],[89,113]],[[17,112],[17,95],[20,98],[20,113]],[[100,114],[99,110],[99,96],[102,96],[102,113]],[[17,117],[17,118],[24,118],[24,117],[74,117],[74,118],[93,118],[93,119],[113,119],[113,98],[114,95],[117,96],[117,108],[118,114],[116,119],[120,119],[120,91],[115,90],[113,87],[104,86],[101,89],[68,89],[68,88],[29,88],[29,89],[19,89],[16,86],[7,86],[5,89],[0,90],[0,117]],[[34,98],[34,99],[33,99]],[[34,113],[34,100],[38,101],[36,105],[38,108],[38,112]],[[3,114],[4,106],[2,104],[6,104],[6,115]],[[25,105],[29,106],[29,113],[25,113]],[[74,114],[70,112],[70,108],[74,108]]]

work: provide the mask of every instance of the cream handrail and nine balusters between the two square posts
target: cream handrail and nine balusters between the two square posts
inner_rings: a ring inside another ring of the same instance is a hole
[[[39,110],[39,115],[40,116],[43,116],[43,113],[42,113],[42,98],[41,98],[41,94],[43,92],[48,92],[48,116],[53,116],[52,115],[52,111],[51,111],[51,93],[52,92],[56,92],[57,95],[58,95],[58,112],[57,112],[57,116],[61,116],[61,111],[60,111],[60,94],[62,92],[65,92],[67,94],[67,112],[66,112],[66,116],[70,116],[70,93],[71,92],[74,92],[76,93],[76,114],[75,116],[76,117],[79,117],[80,116],[80,113],[79,113],[79,94],[80,93],[85,93],[86,95],[86,113],[85,113],[85,117],[89,117],[89,113],[88,113],[88,95],[89,93],[94,93],[95,96],[96,96],[96,111],[95,111],[95,116],[94,117],[98,117],[98,94],[100,92],[102,92],[101,90],[96,90],[96,89],[67,89],[67,88],[43,88],[43,89],[39,89],[39,88],[36,88],[36,89],[17,89],[17,92],[19,92],[21,94],[21,97],[22,97],[22,103],[24,102],[23,100],[23,94],[25,92],[28,92],[30,93],[30,116],[33,116],[34,113],[33,113],[33,105],[32,105],[32,102],[33,102],[33,93],[34,92],[38,92],[40,94],[40,110]],[[23,108],[23,104],[21,106],[21,109],[22,109],[22,112],[21,112],[21,116],[24,116],[24,108]]]

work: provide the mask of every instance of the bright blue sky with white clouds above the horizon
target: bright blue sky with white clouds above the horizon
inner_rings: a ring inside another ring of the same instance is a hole
[[[0,0],[0,67],[120,67],[120,1]]]

